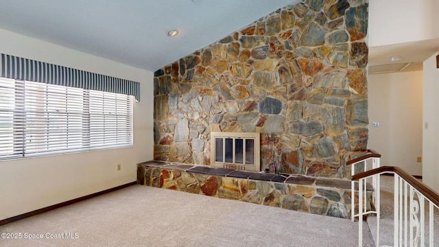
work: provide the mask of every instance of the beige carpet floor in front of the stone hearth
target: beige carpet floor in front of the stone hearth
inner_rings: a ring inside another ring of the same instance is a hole
[[[367,227],[366,227],[367,228]],[[133,185],[0,226],[0,246],[357,246],[357,222]],[[76,239],[54,239],[71,233]],[[42,234],[43,239],[24,239]],[[28,237],[29,235],[27,235]],[[366,231],[364,246],[372,246]]]

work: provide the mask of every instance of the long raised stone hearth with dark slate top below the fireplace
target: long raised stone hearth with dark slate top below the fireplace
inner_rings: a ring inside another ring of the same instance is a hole
[[[351,217],[351,183],[346,180],[150,161],[137,165],[137,183],[319,215]],[[368,209],[371,196],[368,191]],[[358,204],[357,193],[355,202]]]

